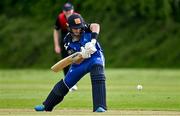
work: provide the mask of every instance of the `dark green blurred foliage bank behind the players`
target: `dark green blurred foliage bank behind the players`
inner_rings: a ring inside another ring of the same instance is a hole
[[[52,30],[65,2],[0,1],[1,68],[47,68],[57,61]],[[179,67],[180,0],[71,2],[87,22],[101,25],[108,67]]]

